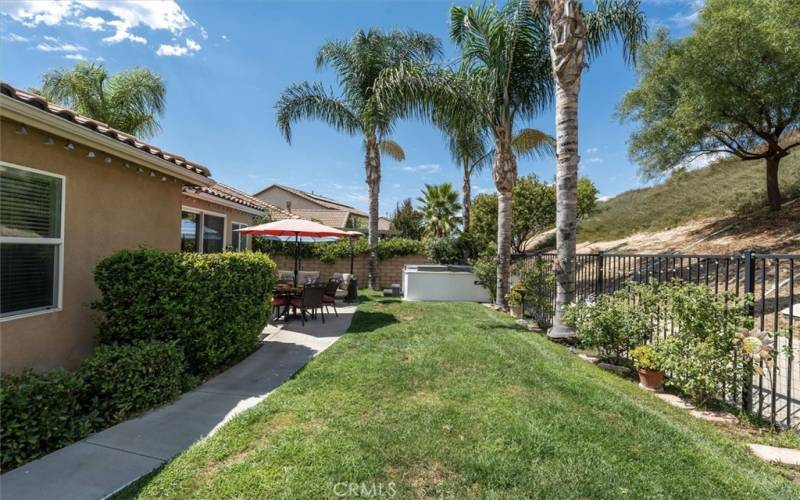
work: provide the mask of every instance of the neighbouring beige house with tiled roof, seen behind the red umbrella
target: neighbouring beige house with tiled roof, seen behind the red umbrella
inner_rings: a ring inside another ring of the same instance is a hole
[[[316,220],[339,229],[367,229],[369,215],[366,212],[316,193],[273,184],[253,196],[302,219]],[[390,229],[389,219],[378,219],[379,232],[388,234]]]

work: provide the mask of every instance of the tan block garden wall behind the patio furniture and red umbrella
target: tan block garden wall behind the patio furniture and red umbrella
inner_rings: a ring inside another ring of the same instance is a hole
[[[280,270],[293,270],[294,258],[290,255],[270,255]],[[356,255],[353,259],[353,273],[358,279],[359,288],[366,288],[367,283],[367,262],[366,254]],[[402,255],[378,260],[378,283],[382,288],[388,288],[393,284],[400,284],[403,275],[403,266],[406,264],[430,264],[431,260],[425,255]],[[320,280],[325,281],[333,273],[349,273],[350,258],[344,257],[336,259],[328,264],[316,259],[305,259],[300,262],[300,269],[303,271],[319,271]]]

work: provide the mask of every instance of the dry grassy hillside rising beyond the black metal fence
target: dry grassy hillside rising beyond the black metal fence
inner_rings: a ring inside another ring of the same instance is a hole
[[[687,245],[708,251],[720,238],[726,239],[716,245],[720,251],[800,249],[800,206],[792,203],[778,214],[765,210],[764,177],[763,160],[725,159],[626,191],[601,202],[580,223],[578,242],[584,251],[670,251]],[[800,153],[781,162],[780,181],[784,197],[800,197]]]

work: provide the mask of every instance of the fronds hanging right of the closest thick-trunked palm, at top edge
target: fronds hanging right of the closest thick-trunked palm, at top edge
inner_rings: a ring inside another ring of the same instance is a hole
[[[639,0],[597,0],[595,10],[584,12],[586,51],[590,59],[603,53],[608,42],[622,43],[628,62],[636,61],[636,53],[647,40],[647,21]]]

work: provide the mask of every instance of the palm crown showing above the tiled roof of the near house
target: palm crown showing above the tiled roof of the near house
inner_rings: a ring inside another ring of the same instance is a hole
[[[131,68],[109,75],[102,64],[79,62],[50,70],[34,92],[109,127],[141,138],[160,130],[167,89],[159,75]]]

